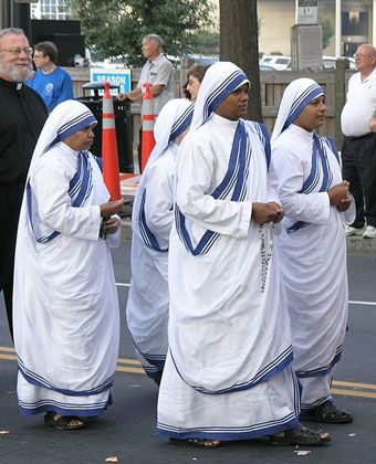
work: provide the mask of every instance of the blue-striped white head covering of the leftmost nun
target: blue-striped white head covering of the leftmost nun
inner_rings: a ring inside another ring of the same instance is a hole
[[[93,113],[83,103],[67,99],[58,105],[45,122],[39,136],[31,165],[29,177],[35,161],[44,155],[53,145],[65,140],[71,135],[96,124]]]

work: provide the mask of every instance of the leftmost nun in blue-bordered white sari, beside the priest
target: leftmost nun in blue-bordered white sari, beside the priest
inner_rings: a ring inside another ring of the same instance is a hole
[[[109,246],[121,240],[100,160],[87,150],[93,114],[66,101],[36,144],[19,221],[13,293],[18,398],[23,414],[73,430],[111,404],[119,339]],[[104,233],[107,233],[106,240]],[[100,234],[102,235],[100,238]]]

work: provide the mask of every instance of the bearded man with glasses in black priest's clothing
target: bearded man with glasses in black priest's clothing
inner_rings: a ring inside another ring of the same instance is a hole
[[[0,30],[0,292],[12,334],[14,246],[24,182],[48,117],[43,99],[24,81],[32,49],[22,29]]]

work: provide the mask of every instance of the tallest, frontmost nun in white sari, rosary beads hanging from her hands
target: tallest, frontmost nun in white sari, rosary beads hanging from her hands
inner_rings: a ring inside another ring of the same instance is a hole
[[[297,418],[269,224],[282,209],[265,203],[269,137],[263,125],[241,119],[248,91],[234,64],[210,66],[179,148],[157,429],[206,447],[271,434],[320,444],[328,435],[303,430]]]

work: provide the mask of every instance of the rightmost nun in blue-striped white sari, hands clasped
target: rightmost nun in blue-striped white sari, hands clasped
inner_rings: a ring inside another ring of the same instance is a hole
[[[355,214],[343,182],[334,141],[316,130],[324,123],[325,94],[310,78],[284,91],[272,135],[270,176],[284,208],[275,238],[292,326],[293,368],[302,386],[302,415],[347,423],[333,404],[331,380],[347,323],[345,222]]]

